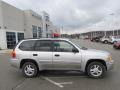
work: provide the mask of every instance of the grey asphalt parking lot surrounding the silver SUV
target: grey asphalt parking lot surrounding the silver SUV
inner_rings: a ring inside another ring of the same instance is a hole
[[[102,79],[92,79],[79,71],[42,71],[36,78],[24,78],[9,64],[10,54],[0,54],[0,90],[120,90],[120,50],[112,45],[72,40],[80,46],[105,50],[115,60],[114,69]]]

